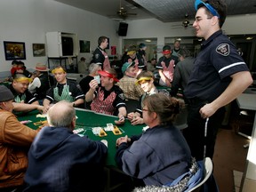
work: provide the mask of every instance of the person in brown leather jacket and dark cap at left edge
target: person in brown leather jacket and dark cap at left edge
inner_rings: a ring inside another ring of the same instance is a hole
[[[21,191],[28,167],[28,148],[36,131],[12,114],[14,96],[0,85],[0,191]]]

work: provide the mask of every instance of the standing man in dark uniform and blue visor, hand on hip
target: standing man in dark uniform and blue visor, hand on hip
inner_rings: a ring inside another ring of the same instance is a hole
[[[188,99],[188,128],[184,135],[192,156],[213,157],[224,106],[252,84],[252,76],[236,46],[220,29],[226,19],[222,0],[204,3],[196,0],[196,36],[203,37],[201,52],[184,94]]]

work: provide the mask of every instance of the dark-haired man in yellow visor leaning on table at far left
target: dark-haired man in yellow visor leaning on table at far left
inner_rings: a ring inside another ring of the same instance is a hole
[[[28,84],[31,81],[31,78],[28,78],[23,74],[16,74],[12,77],[12,84],[10,84],[9,88],[14,95],[14,111],[27,112],[33,109],[43,110],[43,107],[39,105],[36,96],[28,92]]]

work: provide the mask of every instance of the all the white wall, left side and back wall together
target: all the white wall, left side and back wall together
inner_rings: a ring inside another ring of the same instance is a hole
[[[227,34],[256,34],[256,15],[230,17],[224,25]],[[123,39],[156,37],[157,44],[164,44],[165,37],[194,36],[193,28],[172,28],[173,24],[151,20],[127,20],[127,36],[116,35],[118,22],[84,10],[60,4],[53,0],[1,0],[0,1],[0,71],[9,71],[11,60],[4,58],[4,41],[25,42],[28,68],[37,62],[47,63],[47,57],[34,57],[32,44],[45,44],[45,33],[61,31],[76,33],[78,40],[89,40],[91,50],[97,46],[99,36],[109,36],[110,45],[116,45],[122,54]],[[192,21],[191,21],[192,22]],[[110,50],[108,51],[110,54]],[[78,55],[92,59],[92,53]]]

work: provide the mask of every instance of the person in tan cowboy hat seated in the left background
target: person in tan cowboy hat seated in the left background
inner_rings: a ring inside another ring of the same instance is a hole
[[[52,85],[53,78],[49,76],[49,68],[45,64],[37,63],[36,64],[36,77],[33,82],[28,85],[28,91],[36,94],[38,100],[43,100],[46,95],[46,91],[50,89]]]

